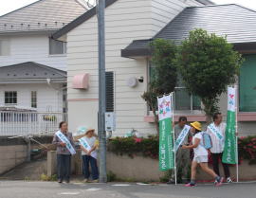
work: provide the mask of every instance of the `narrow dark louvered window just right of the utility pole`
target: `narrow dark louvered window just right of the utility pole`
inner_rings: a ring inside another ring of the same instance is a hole
[[[106,112],[114,112],[114,73],[106,72]]]

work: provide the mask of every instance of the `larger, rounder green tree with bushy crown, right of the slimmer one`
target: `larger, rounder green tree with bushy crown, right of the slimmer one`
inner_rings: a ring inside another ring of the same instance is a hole
[[[177,65],[188,90],[200,97],[207,121],[218,111],[218,97],[236,81],[242,56],[227,38],[195,29],[182,42],[177,53]]]

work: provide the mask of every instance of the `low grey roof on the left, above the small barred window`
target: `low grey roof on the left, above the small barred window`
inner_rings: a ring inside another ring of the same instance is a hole
[[[66,72],[40,63],[26,62],[0,67],[0,81],[66,80]]]

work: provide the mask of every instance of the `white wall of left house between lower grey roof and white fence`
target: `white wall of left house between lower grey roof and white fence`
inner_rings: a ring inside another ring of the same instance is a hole
[[[54,89],[55,88],[55,89]],[[37,111],[63,112],[63,91],[60,84],[54,88],[47,84],[1,84],[0,85],[0,106],[5,106],[5,91],[17,91],[17,106],[31,107],[31,91],[37,91]]]

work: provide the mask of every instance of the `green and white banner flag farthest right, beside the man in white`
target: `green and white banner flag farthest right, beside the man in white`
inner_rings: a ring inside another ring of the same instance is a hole
[[[227,128],[225,137],[224,153],[222,157],[223,163],[236,164],[237,163],[237,142],[235,136],[236,125],[236,93],[235,88],[228,88],[228,116],[227,116]]]

